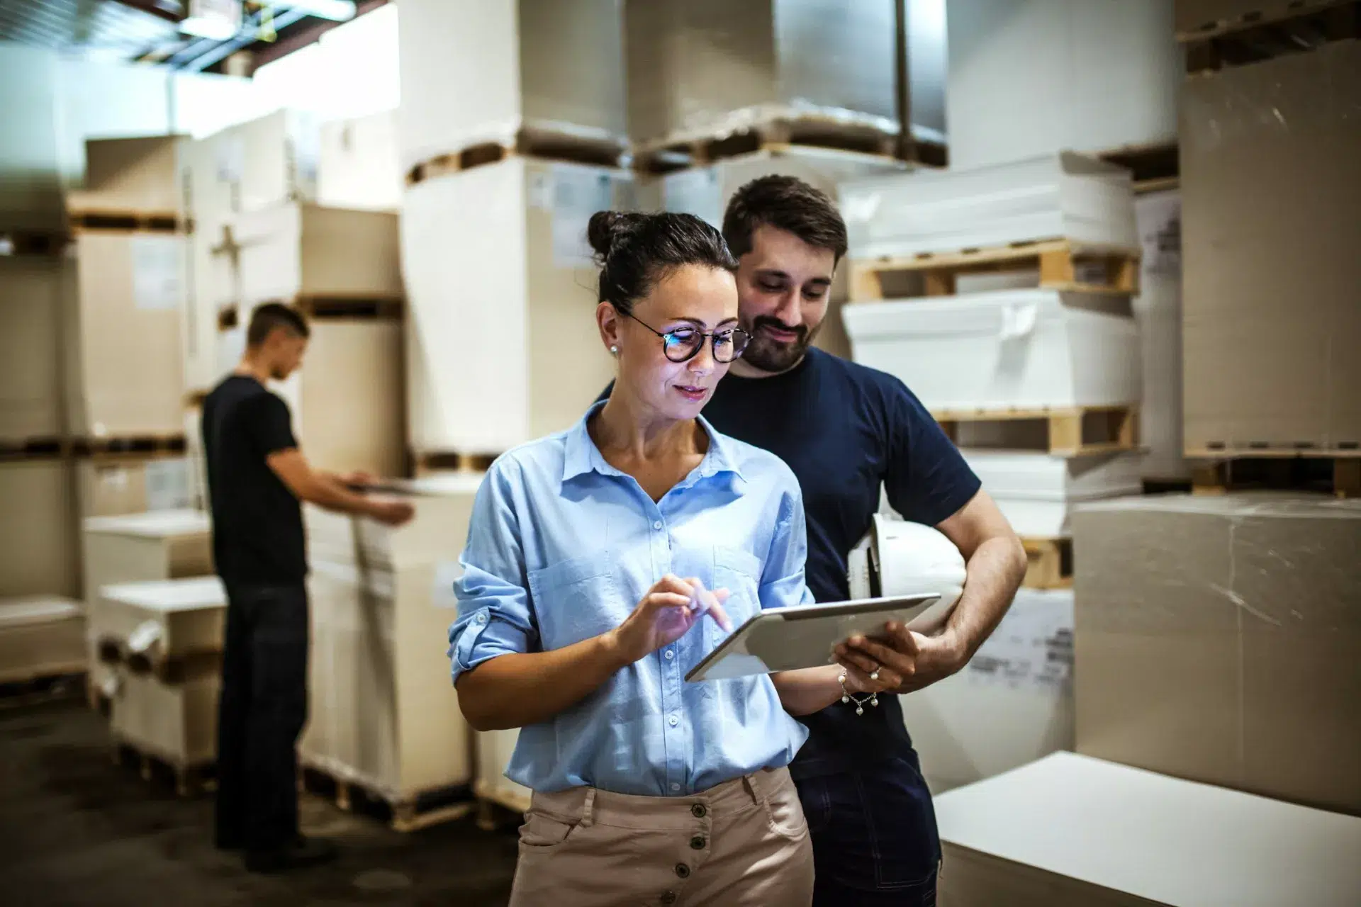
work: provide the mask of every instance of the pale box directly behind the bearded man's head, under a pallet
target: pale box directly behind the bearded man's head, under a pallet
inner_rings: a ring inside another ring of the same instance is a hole
[[[837,200],[837,185],[849,179],[890,173],[902,173],[906,165],[887,162],[875,155],[836,151],[832,148],[789,147],[783,151],[757,151],[728,158],[708,167],[682,170],[649,185],[640,186],[638,200],[644,209],[680,211],[704,218],[723,228],[723,212],[732,194],[759,177],[781,174],[798,177],[814,189]],[[826,318],[814,345],[845,359],[851,358],[851,340],[841,322],[841,306],[847,301],[849,268],[842,258],[832,284]]]

